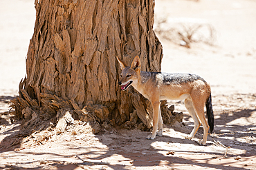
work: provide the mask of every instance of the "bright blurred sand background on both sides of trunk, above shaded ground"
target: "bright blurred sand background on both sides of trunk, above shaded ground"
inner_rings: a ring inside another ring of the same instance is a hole
[[[155,3],[163,72],[199,74],[213,96],[256,94],[256,1]],[[17,95],[34,23],[33,0],[0,1],[0,96]]]

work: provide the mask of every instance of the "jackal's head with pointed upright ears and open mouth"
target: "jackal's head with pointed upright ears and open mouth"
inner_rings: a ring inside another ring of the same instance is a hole
[[[131,67],[129,67],[124,61],[118,58],[118,62],[120,64],[122,73],[121,80],[118,82],[118,85],[121,85],[122,90],[126,90],[132,83],[138,83],[138,76],[140,76],[140,58],[135,56],[134,61],[131,63]]]

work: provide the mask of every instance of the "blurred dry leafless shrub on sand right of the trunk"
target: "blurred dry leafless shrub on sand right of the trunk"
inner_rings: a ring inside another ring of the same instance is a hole
[[[217,32],[210,23],[201,21],[181,21],[167,19],[167,17],[157,19],[154,31],[161,38],[172,43],[191,47],[191,43],[205,43],[214,45]]]

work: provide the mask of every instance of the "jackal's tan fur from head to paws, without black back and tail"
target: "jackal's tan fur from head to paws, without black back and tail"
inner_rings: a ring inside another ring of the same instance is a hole
[[[190,115],[194,119],[194,129],[188,139],[194,138],[196,131],[199,129],[201,123],[203,124],[203,141],[202,145],[205,145],[209,126],[204,116],[205,101],[210,96],[210,85],[202,80],[190,81],[179,84],[167,84],[161,79],[161,76],[156,78],[149,78],[143,82],[143,78],[140,75],[140,59],[138,56],[134,58],[134,61],[129,67],[121,59],[118,59],[120,67],[122,69],[121,79],[118,84],[124,85],[133,81],[131,85],[140,94],[143,94],[145,98],[149,99],[153,107],[153,131],[152,135],[147,139],[156,138],[156,131],[158,129],[158,136],[163,133],[163,120],[161,117],[160,101],[161,100],[185,100],[185,107],[188,109]],[[127,87],[128,88],[128,87]],[[126,88],[126,89],[127,89]]]

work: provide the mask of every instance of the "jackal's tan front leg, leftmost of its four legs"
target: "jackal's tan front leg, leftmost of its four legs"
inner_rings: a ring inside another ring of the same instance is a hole
[[[153,106],[153,131],[152,131],[152,135],[147,136],[147,139],[149,139],[149,140],[154,140],[154,138],[156,138],[156,131],[158,128],[158,116],[159,116],[160,101],[152,103],[152,106]]]

